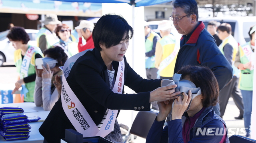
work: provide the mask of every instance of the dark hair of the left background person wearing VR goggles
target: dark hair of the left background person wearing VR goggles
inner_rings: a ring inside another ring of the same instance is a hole
[[[44,56],[45,55],[51,57],[52,59],[57,59],[58,63],[56,63],[55,67],[63,66],[68,59],[68,56],[66,55],[64,49],[59,46],[44,50]]]

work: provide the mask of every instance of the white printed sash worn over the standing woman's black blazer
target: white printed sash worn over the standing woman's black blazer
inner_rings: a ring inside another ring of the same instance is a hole
[[[69,72],[74,64],[74,62],[87,51],[91,51],[92,49],[88,49],[86,51],[82,51],[68,59],[64,64],[64,72],[62,76],[62,93],[61,93],[61,102],[62,108],[75,127],[76,131],[82,133],[84,137],[91,136],[101,136],[105,137],[114,129],[114,123],[116,120],[116,116],[118,110],[108,110],[107,117],[100,128],[100,131],[82,103],[76,97],[74,92],[71,90],[68,85],[66,78],[69,75]],[[116,76],[116,82],[114,84],[113,92],[114,93],[122,93],[122,89],[124,87],[124,60],[119,62],[118,73]]]

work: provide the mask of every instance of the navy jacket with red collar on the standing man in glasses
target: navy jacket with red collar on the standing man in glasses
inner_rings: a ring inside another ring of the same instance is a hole
[[[233,69],[204,27],[204,23],[199,22],[194,31],[182,36],[174,73],[186,65],[209,67],[214,72],[221,90],[232,79]]]

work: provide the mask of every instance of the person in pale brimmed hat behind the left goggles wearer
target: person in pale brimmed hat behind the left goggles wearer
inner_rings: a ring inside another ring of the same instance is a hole
[[[58,21],[56,14],[46,14],[45,20],[40,20],[40,22],[42,22],[44,26],[36,34],[36,41],[37,47],[39,47],[41,51],[44,51],[59,41],[54,30],[61,22]]]

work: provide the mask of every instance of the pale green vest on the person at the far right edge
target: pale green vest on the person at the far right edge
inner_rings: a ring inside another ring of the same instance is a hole
[[[248,42],[248,45],[251,47],[251,42]],[[240,62],[242,64],[246,64],[249,62],[246,55],[244,54],[244,51],[242,50],[242,47],[239,46],[239,56],[240,56]],[[241,90],[248,90],[252,91],[253,89],[253,71],[250,71],[250,69],[241,70],[241,76],[240,76],[240,89]],[[250,74],[243,74],[243,73],[250,73]]]

